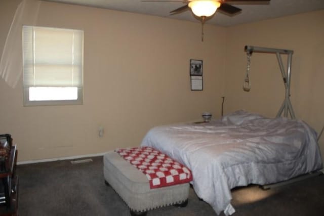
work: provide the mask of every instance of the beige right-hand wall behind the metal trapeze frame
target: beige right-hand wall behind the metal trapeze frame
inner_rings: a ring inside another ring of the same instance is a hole
[[[324,11],[239,25],[226,29],[226,112],[245,109],[274,117],[285,89],[274,54],[254,53],[250,92],[242,90],[245,45],[294,50],[291,101],[296,117],[318,133],[324,125]],[[283,58],[286,66],[286,59]],[[324,155],[324,135],[320,139]]]

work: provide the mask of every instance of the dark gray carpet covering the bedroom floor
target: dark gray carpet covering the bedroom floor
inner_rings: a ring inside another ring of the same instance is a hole
[[[104,184],[102,157],[92,159],[80,164],[56,161],[18,165],[19,215],[130,215],[126,204]],[[324,175],[271,190],[236,188],[232,196],[234,216],[324,215]],[[216,213],[190,189],[187,207],[158,208],[147,213],[152,215]]]

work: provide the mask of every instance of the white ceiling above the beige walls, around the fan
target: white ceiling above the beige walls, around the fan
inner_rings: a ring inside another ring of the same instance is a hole
[[[85,5],[97,8],[106,8],[117,11],[127,11],[139,14],[148,14],[172,19],[182,19],[199,22],[191,11],[177,15],[170,15],[170,11],[184,6],[177,2],[141,2],[141,0],[46,0],[67,4]],[[231,4],[242,9],[242,12],[229,17],[216,12],[208,24],[218,26],[233,26],[243,23],[266,20],[275,17],[294,15],[324,9],[324,0],[271,0],[269,4]],[[324,20],[323,20],[324,21]]]

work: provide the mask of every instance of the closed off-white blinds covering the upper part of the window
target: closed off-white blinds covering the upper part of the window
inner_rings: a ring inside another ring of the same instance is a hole
[[[83,86],[83,31],[23,26],[24,88]]]

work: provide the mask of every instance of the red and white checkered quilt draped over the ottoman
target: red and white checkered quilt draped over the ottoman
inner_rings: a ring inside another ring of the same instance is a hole
[[[133,147],[115,152],[145,174],[151,189],[192,181],[190,169],[153,148]]]

